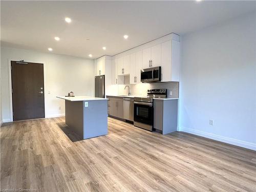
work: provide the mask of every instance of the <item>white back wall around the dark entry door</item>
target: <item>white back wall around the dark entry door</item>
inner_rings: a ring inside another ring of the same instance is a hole
[[[45,63],[46,117],[65,114],[65,102],[56,98],[57,95],[67,95],[68,92],[73,91],[75,95],[94,96],[93,59],[1,47],[1,102],[4,121],[11,119],[8,59]],[[58,109],[59,106],[61,110]]]

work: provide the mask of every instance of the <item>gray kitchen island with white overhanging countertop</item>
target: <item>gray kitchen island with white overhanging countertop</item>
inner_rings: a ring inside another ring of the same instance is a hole
[[[66,124],[83,139],[108,134],[108,99],[88,96],[65,97]]]

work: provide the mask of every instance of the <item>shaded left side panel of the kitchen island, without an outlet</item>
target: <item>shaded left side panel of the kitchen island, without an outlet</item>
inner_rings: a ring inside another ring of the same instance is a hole
[[[69,129],[83,136],[83,101],[65,100],[66,124]]]

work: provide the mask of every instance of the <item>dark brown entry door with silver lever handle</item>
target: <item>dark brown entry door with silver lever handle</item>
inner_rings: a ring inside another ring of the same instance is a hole
[[[11,61],[13,120],[45,117],[44,65]]]

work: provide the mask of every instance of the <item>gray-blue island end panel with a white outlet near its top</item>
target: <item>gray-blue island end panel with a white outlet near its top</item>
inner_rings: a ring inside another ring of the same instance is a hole
[[[108,100],[83,101],[83,130],[83,139],[108,134]]]

